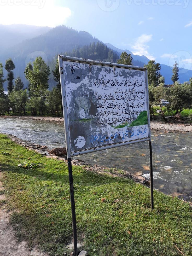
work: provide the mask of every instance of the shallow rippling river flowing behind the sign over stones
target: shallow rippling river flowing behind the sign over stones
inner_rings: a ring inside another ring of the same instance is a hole
[[[0,118],[0,132],[46,145],[65,146],[64,124],[49,121]],[[166,194],[191,200],[192,133],[152,130],[154,187]],[[120,168],[149,179],[148,142],[107,149],[76,157],[87,163]]]

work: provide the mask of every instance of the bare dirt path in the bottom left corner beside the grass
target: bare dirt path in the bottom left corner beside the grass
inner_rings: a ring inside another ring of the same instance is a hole
[[[0,191],[3,191],[1,182],[2,172],[0,171]],[[4,194],[0,194],[0,203],[6,200]],[[37,247],[32,250],[27,248],[26,242],[17,242],[13,227],[9,224],[11,212],[5,207],[0,206],[0,256],[48,256],[46,253],[40,252]]]

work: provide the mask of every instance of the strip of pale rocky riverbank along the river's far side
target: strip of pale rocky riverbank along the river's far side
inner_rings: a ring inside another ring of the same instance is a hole
[[[22,120],[37,120],[37,121],[49,121],[49,122],[63,122],[62,117],[32,117],[32,116],[0,116],[0,118],[15,118]],[[192,132],[192,125],[186,124],[164,124],[156,121],[151,121],[151,129],[154,130],[168,130],[168,131],[182,131],[182,132]]]

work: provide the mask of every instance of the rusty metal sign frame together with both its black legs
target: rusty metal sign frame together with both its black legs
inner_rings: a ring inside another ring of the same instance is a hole
[[[88,59],[81,59],[81,58],[62,56],[62,55],[58,55],[58,60],[59,60],[60,82],[61,82],[61,92],[62,92],[63,117],[64,117],[64,125],[65,125],[65,138],[66,138],[66,145],[67,145],[67,162],[68,162],[68,172],[69,172],[69,188],[70,188],[70,196],[71,196],[71,211],[72,211],[72,225],[73,225],[73,245],[74,245],[74,255],[76,256],[78,254],[77,225],[76,225],[76,215],[75,215],[75,199],[74,199],[71,156],[88,154],[91,152],[97,152],[97,151],[105,150],[105,149],[109,149],[109,148],[115,148],[115,147],[126,146],[126,145],[130,145],[130,144],[148,141],[149,142],[151,210],[154,209],[153,160],[152,160],[152,144],[151,144],[151,132],[150,132],[150,112],[149,112],[149,104],[148,104],[148,102],[149,102],[148,77],[147,77],[147,68],[144,68],[144,67],[136,67],[136,66],[116,64],[116,63],[110,63],[110,62],[102,62],[102,61],[93,61],[93,60],[88,60]],[[66,101],[66,91],[65,91],[65,76],[64,76],[64,72],[63,72],[64,71],[63,60],[144,71],[145,72],[145,82],[146,82],[146,94],[147,94],[146,96],[147,96],[147,116],[148,116],[148,138],[136,139],[136,140],[129,141],[129,142],[110,144],[107,146],[101,146],[99,148],[71,152],[71,144],[70,144],[70,138],[69,138],[69,134],[70,134],[69,133],[69,122],[68,122],[68,113],[67,113],[67,101]]]

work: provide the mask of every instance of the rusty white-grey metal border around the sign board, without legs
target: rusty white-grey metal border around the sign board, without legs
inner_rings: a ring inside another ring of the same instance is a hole
[[[146,83],[146,96],[147,96],[147,102],[148,102],[149,94],[148,94],[147,68],[128,66],[128,65],[116,64],[116,63],[110,63],[110,62],[93,61],[93,60],[68,57],[68,56],[62,56],[62,55],[58,55],[58,58],[59,58],[59,70],[60,70],[61,92],[62,92],[62,103],[63,103],[63,116],[64,116],[64,123],[65,123],[65,137],[66,137],[67,157],[68,158],[71,156],[78,156],[78,155],[82,155],[82,154],[88,154],[91,152],[109,149],[109,148],[115,148],[115,147],[120,147],[120,146],[125,146],[125,145],[130,145],[130,144],[134,144],[134,143],[145,142],[145,141],[151,140],[150,113],[149,113],[149,104],[147,104],[148,132],[149,132],[148,138],[135,139],[135,140],[132,140],[129,142],[113,143],[113,144],[110,144],[107,146],[101,146],[101,147],[96,147],[96,148],[92,148],[92,149],[85,149],[85,150],[79,150],[77,152],[72,152],[70,138],[69,138],[70,131],[69,131],[69,120],[68,120],[68,112],[67,112],[67,100],[66,100],[66,90],[65,90],[65,76],[64,76],[64,72],[63,72],[64,71],[63,61],[80,62],[80,63],[88,63],[88,64],[95,64],[95,65],[102,65],[102,66],[110,66],[110,67],[115,67],[115,68],[125,68],[125,69],[134,69],[134,70],[138,70],[138,71],[144,71],[145,72],[145,83]]]

